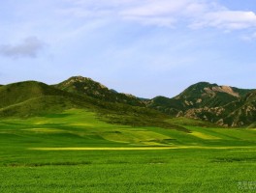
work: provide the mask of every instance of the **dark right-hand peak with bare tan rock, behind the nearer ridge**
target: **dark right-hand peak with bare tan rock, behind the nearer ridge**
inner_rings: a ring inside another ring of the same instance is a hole
[[[226,105],[240,99],[249,92],[251,90],[200,82],[188,87],[174,98],[155,97],[147,103],[147,106],[174,116],[182,116],[189,109]]]

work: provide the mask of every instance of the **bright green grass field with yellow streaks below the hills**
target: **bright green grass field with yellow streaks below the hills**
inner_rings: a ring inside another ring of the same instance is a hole
[[[107,124],[67,110],[0,121],[0,192],[255,192],[256,130]]]

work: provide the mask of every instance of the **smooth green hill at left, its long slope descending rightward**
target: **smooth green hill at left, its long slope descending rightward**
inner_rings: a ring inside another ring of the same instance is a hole
[[[112,124],[161,126],[187,131],[182,126],[166,123],[168,116],[156,110],[92,96],[67,92],[36,81],[13,83],[0,87],[0,118],[44,117],[77,108],[97,113],[99,119]]]

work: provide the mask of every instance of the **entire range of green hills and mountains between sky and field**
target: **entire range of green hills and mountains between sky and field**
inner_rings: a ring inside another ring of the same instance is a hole
[[[200,82],[178,96],[144,99],[74,76],[56,85],[36,81],[0,85],[0,117],[31,117],[70,108],[90,109],[117,124],[176,127],[165,119],[185,117],[221,126],[254,126],[256,90]]]

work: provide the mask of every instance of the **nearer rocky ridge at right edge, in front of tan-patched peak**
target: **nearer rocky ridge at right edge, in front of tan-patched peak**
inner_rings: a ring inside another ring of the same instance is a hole
[[[219,100],[222,103],[208,105],[211,102],[209,101],[206,105],[192,107],[183,111],[182,116],[224,126],[244,126],[254,123],[256,121],[254,116],[256,110],[255,91],[230,88],[232,91],[236,91],[236,95],[238,94],[236,99],[232,99],[231,96],[213,96],[213,101]],[[229,89],[229,91],[231,90]],[[234,93],[232,92],[231,95],[234,96]]]

